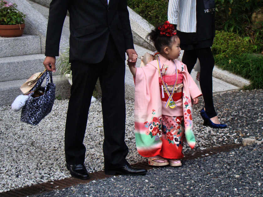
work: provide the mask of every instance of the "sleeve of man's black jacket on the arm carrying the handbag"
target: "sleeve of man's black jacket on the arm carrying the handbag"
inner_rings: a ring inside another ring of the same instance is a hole
[[[69,0],[52,0],[50,3],[46,32],[46,56],[55,57],[59,55],[59,43],[68,4]]]

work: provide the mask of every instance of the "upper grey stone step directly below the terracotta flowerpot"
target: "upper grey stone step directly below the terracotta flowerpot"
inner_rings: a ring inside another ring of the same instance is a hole
[[[41,53],[40,37],[33,35],[22,35],[21,37],[0,37],[1,57],[22,56]]]

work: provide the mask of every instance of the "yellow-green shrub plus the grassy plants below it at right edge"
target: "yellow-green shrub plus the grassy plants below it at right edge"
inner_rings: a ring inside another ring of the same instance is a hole
[[[248,38],[216,31],[212,46],[215,64],[232,73],[250,79],[251,85],[245,89],[263,88],[263,55],[252,53],[253,45]]]

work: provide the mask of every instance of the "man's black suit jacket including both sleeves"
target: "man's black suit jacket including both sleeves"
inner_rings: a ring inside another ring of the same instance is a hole
[[[69,11],[70,62],[99,63],[105,56],[111,35],[125,60],[133,39],[126,0],[52,0],[46,35],[46,56],[59,55],[62,26]]]

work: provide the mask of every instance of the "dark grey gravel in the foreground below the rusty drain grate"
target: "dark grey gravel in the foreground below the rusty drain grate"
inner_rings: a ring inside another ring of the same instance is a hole
[[[262,196],[262,145],[250,145],[156,167],[145,176],[117,176],[35,196]]]

